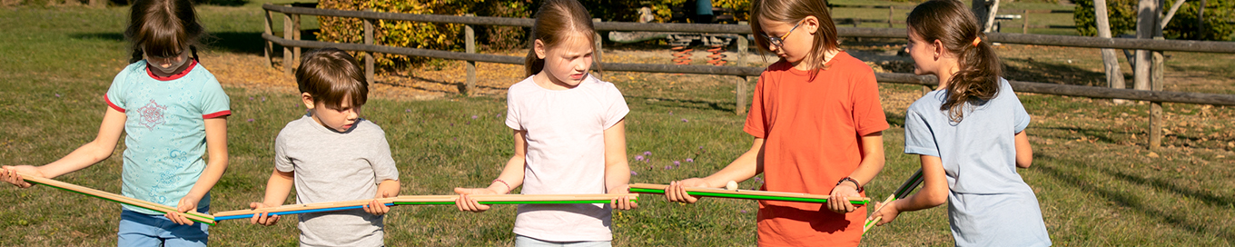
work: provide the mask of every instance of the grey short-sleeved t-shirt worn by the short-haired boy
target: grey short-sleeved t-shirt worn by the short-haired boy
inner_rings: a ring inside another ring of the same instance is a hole
[[[295,173],[296,204],[373,199],[378,183],[399,180],[382,127],[367,120],[353,126],[340,133],[305,115],[279,131],[274,168]],[[384,245],[382,216],[361,209],[299,219],[300,246]]]

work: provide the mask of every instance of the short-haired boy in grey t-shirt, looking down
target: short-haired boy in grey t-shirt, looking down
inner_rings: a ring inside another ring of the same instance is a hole
[[[283,205],[293,184],[296,204],[374,199],[363,210],[301,214],[300,246],[383,246],[382,215],[390,207],[375,199],[399,195],[399,170],[385,132],[359,119],[368,84],[354,61],[333,48],[300,61],[296,84],[309,112],[279,131],[266,199],[249,204]],[[254,216],[251,222],[269,226],[278,220]]]

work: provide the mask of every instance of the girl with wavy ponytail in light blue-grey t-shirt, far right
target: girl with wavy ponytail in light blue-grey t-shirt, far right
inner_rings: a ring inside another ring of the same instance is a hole
[[[1029,114],[999,78],[999,58],[973,14],[957,0],[931,0],[906,23],[914,73],[939,77],[939,90],[905,114],[905,153],[920,156],[925,182],[871,219],[883,225],[946,201],[957,246],[1050,246],[1037,198],[1016,174],[1034,157]]]

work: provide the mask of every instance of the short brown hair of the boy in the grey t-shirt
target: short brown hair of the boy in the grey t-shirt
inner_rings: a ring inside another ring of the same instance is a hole
[[[296,69],[296,85],[300,93],[309,93],[314,104],[324,103],[337,109],[343,98],[351,96],[352,107],[359,107],[368,101],[369,83],[364,80],[356,57],[337,48],[320,48],[305,53]]]

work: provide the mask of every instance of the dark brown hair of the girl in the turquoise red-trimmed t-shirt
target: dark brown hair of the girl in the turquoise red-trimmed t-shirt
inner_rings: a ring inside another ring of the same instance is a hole
[[[189,0],[137,0],[130,10],[128,28],[125,30],[125,38],[133,49],[128,63],[141,61],[142,53],[178,56],[186,46],[193,52],[193,59],[198,59],[196,46],[205,33]]]

